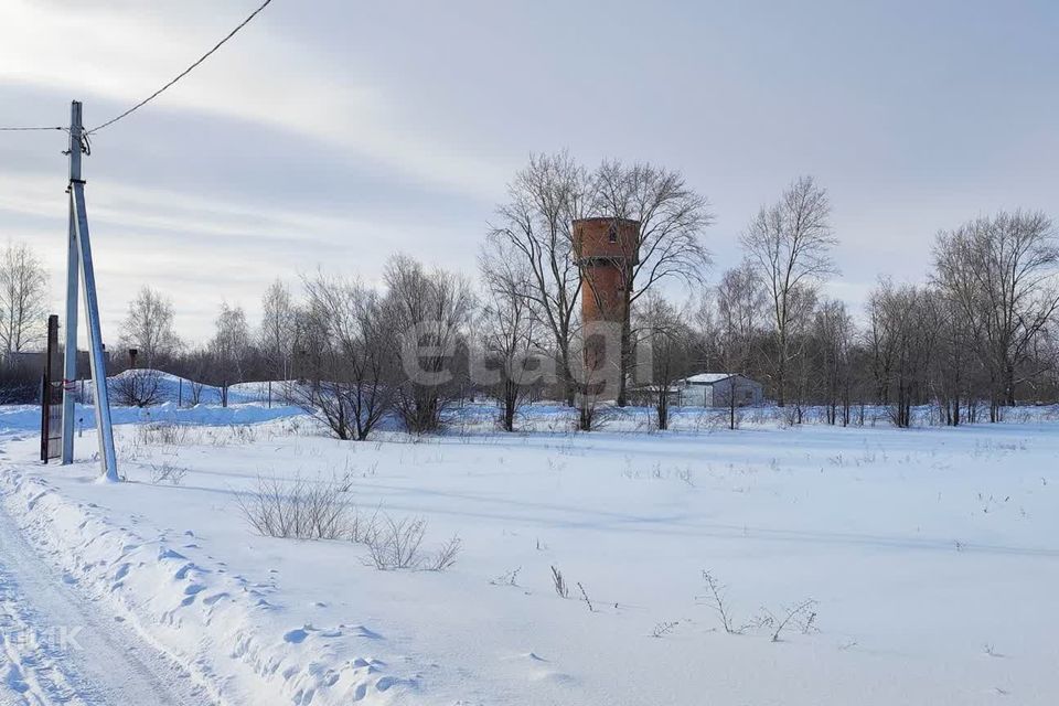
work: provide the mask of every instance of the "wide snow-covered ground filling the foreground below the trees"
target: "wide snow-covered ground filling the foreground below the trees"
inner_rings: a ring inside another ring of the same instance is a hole
[[[644,413],[577,435],[542,408],[536,431],[502,435],[478,408],[459,434],[353,443],[295,409],[243,409],[169,407],[151,410],[154,426],[119,426],[129,482],[113,485],[93,482],[87,432],[75,467],[41,467],[26,413],[0,413],[0,704],[61,703],[47,674],[69,674],[74,692],[96,684],[96,657],[9,640],[8,625],[56,622],[154,665],[99,648],[139,691],[114,700],[103,681],[85,703],[147,703],[137,695],[164,665],[181,675],[171,702],[195,704],[1059,696],[1050,413],[960,429],[727,431],[688,417],[683,431],[633,431]],[[362,523],[422,518],[422,550],[458,536],[457,563],[381,571],[363,544],[259,536],[238,498],[263,478],[339,479]],[[775,620],[810,599],[773,641]]]

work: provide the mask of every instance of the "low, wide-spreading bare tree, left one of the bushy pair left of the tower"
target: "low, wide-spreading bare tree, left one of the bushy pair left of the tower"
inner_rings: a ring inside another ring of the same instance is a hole
[[[398,383],[395,317],[379,293],[349,279],[318,274],[304,279],[303,345],[309,384],[297,387],[307,408],[319,409],[340,439],[363,441],[393,408]]]

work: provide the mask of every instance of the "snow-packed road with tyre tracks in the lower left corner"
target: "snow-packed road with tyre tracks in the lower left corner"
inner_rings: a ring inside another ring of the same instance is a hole
[[[0,507],[0,706],[210,703],[185,670],[47,566]]]

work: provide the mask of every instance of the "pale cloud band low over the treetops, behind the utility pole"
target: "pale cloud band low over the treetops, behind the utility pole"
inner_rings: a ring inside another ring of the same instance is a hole
[[[42,254],[52,278],[53,309],[65,282],[66,195],[50,174],[0,173],[4,231]],[[354,217],[306,213],[267,203],[232,203],[162,189],[94,180],[87,190],[89,228],[105,335],[114,338],[127,300],[151,285],[178,301],[181,332],[195,340],[211,333],[212,312],[226,300],[259,313],[265,286],[279,277],[327,269],[367,278],[400,249],[422,253],[435,243],[431,261],[460,264],[445,244],[477,242],[454,226],[415,217]]]

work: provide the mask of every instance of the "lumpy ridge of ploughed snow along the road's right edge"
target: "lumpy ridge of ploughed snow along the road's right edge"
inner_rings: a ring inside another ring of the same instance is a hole
[[[4,506],[26,539],[90,598],[184,665],[221,704],[391,704],[415,696],[417,677],[389,673],[363,625],[292,627],[276,589],[185,558],[191,532],[139,536],[92,503],[46,481],[0,473]],[[360,656],[353,656],[360,655]],[[353,659],[350,659],[350,657]]]

